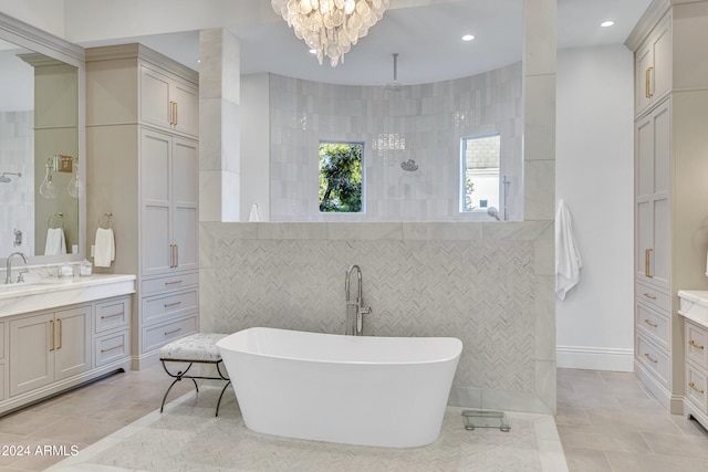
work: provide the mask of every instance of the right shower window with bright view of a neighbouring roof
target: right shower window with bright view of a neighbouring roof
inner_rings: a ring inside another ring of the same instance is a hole
[[[500,141],[498,134],[462,138],[460,211],[499,209]]]

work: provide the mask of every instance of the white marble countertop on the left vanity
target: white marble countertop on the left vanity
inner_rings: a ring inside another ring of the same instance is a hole
[[[133,274],[49,277],[0,285],[0,317],[135,293]]]

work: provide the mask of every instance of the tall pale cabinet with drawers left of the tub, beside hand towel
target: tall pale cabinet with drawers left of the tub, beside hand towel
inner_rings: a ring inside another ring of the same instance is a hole
[[[133,367],[198,329],[198,74],[140,44],[86,50],[88,233],[113,214],[135,273]]]

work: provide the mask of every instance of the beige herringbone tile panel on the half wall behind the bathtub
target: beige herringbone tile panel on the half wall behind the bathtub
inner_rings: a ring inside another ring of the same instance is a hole
[[[456,336],[454,388],[533,394],[533,241],[211,237],[202,329],[270,326],[344,333],[344,276],[358,264],[365,334]],[[204,264],[202,264],[204,265]]]

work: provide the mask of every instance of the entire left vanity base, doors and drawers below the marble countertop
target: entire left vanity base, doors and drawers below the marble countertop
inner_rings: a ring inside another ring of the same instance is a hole
[[[2,317],[0,413],[129,368],[131,301],[126,294]]]

